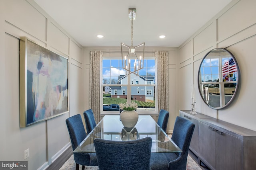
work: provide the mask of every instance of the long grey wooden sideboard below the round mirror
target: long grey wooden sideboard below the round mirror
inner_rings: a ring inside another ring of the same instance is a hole
[[[256,170],[256,131],[189,110],[180,117],[195,124],[190,150],[212,170]]]

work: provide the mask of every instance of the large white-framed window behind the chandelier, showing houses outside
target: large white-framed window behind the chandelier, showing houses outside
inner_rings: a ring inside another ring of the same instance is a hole
[[[153,57],[144,59],[144,68],[139,70],[138,74],[126,75],[120,58],[103,56],[101,82],[103,113],[107,111],[119,113],[119,109],[112,108],[113,105],[132,101],[138,103],[138,112],[156,111],[155,59]],[[109,90],[106,90],[106,87]]]

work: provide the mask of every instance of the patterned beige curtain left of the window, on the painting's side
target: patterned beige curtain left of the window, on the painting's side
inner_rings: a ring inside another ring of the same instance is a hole
[[[102,51],[91,51],[90,55],[89,107],[94,113],[96,123],[100,121],[100,68],[102,55]]]

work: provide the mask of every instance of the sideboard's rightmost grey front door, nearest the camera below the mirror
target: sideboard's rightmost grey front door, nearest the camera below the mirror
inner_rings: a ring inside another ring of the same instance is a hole
[[[216,130],[216,170],[241,170],[240,139]]]

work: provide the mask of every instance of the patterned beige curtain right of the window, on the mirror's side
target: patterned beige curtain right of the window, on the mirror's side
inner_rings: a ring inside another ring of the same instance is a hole
[[[156,51],[158,109],[169,111],[168,51]]]

